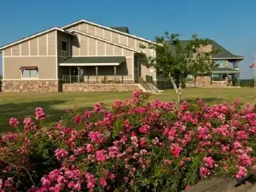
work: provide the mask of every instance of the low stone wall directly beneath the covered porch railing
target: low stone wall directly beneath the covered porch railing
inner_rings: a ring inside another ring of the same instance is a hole
[[[138,84],[62,84],[63,92],[133,91],[138,89]]]

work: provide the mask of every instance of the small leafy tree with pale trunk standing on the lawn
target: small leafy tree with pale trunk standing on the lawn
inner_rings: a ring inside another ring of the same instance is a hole
[[[157,44],[148,44],[154,49],[156,56],[149,56],[143,63],[146,67],[154,67],[162,78],[170,80],[176,91],[177,108],[181,101],[183,85],[188,75],[195,78],[198,75],[211,73],[215,62],[211,57],[217,50],[212,49],[212,41],[208,38],[198,38],[192,35],[188,41],[180,41],[178,34],[156,37]],[[141,46],[146,48],[145,46]]]

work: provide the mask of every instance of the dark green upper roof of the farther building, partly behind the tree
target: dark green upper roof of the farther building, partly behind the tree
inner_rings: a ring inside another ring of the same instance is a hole
[[[212,49],[218,49],[218,53],[217,54],[212,54],[212,59],[213,60],[221,60],[221,59],[226,59],[226,60],[243,60],[244,56],[241,55],[234,55],[232,53],[230,53],[229,50],[224,49],[223,46],[221,46],[220,44],[217,44],[215,41],[212,41]],[[186,44],[188,44],[189,40],[180,40],[180,44],[182,46],[186,46]],[[167,42],[167,44],[170,46],[171,49],[173,49],[172,45],[170,44],[170,42]]]

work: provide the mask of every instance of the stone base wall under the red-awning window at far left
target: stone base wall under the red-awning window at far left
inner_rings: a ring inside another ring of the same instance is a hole
[[[59,80],[2,80],[3,92],[58,92]]]

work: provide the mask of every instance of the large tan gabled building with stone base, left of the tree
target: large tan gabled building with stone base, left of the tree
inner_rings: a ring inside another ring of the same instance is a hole
[[[141,64],[154,44],[127,27],[79,20],[0,48],[3,91],[135,90],[154,69]],[[141,87],[140,87],[141,88]]]

